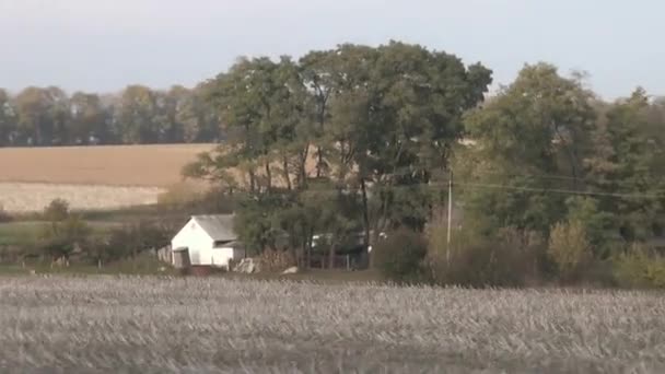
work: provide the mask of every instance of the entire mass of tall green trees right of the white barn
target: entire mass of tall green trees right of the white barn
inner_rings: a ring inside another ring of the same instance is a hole
[[[481,243],[467,249],[492,254],[491,268],[508,243],[540,249],[505,256],[562,274],[663,235],[665,102],[638,89],[606,103],[548,63],[486,100],[490,83],[480,63],[397,42],[242,59],[206,83],[229,138],[185,174],[240,196],[237,230],[259,250],[288,237],[306,255],[328,233],[334,255],[354,232],[366,245],[441,232],[453,171],[453,236],[468,239],[431,245],[447,259]]]

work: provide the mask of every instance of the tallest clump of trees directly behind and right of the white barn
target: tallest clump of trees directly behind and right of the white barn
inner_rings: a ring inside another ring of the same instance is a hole
[[[288,234],[289,247],[308,253],[324,232],[332,256],[357,232],[370,243],[424,227],[427,186],[447,170],[463,115],[490,83],[479,63],[396,42],[242,59],[207,83],[228,140],[185,172],[246,192],[237,229],[249,246]]]

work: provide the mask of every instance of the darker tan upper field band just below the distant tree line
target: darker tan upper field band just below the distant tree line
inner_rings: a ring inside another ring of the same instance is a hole
[[[0,148],[0,182],[167,187],[213,144]]]

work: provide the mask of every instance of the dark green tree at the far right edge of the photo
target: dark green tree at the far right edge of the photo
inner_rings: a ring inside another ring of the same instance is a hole
[[[598,209],[614,215],[616,230],[629,242],[653,236],[663,220],[664,143],[652,137],[649,112],[641,89],[611,105],[594,132],[595,152],[586,159],[590,185],[605,194]]]

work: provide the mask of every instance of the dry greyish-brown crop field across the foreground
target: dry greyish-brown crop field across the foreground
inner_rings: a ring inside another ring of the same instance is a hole
[[[665,297],[0,279],[0,372],[663,373]]]

